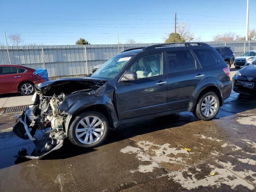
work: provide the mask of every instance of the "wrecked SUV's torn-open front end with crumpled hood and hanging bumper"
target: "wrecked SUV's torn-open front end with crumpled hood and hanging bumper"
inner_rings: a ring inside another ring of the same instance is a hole
[[[67,120],[70,120],[70,114],[65,112],[62,102],[74,94],[85,96],[96,94],[96,90],[105,82],[106,80],[85,77],[37,84],[32,98],[34,104],[18,116],[13,127],[14,133],[19,138],[32,140],[35,149],[30,155],[27,154],[26,149],[22,149],[16,157],[40,159],[61,148],[64,139],[68,136],[68,128],[65,125]]]

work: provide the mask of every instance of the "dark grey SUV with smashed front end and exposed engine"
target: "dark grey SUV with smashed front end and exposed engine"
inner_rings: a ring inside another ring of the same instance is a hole
[[[125,50],[90,77],[36,85],[34,105],[20,122],[30,127],[33,120],[33,129],[51,126],[46,146],[52,146],[38,153],[60,148],[66,137],[75,145],[95,147],[102,144],[110,127],[127,122],[182,111],[211,120],[231,88],[230,69],[213,47],[205,43],[158,44]],[[14,130],[25,133],[20,122]]]

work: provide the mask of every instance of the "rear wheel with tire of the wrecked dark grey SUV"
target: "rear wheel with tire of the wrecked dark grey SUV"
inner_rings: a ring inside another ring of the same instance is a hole
[[[210,101],[213,99],[212,100],[213,104],[208,105],[209,98],[210,98]],[[204,108],[202,104],[206,106],[204,110],[202,110],[202,108]],[[209,113],[207,112],[207,109]],[[195,116],[200,120],[208,121],[214,118],[218,114],[219,109],[220,109],[220,99],[215,92],[210,91],[200,96],[193,114],[195,114]]]

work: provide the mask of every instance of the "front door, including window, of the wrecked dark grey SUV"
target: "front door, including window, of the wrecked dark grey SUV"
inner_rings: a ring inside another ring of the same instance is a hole
[[[119,120],[155,114],[168,110],[167,75],[163,52],[138,58],[128,68],[137,73],[137,80],[119,82],[116,106]]]

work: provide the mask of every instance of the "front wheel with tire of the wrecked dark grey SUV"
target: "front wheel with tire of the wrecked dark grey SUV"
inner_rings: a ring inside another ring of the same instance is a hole
[[[94,120],[95,122],[92,124]],[[100,124],[97,125],[98,123]],[[90,126],[87,126],[87,124],[90,124]],[[94,127],[95,125],[96,127]],[[95,131],[96,129],[97,131]],[[85,148],[96,147],[105,141],[108,130],[108,120],[103,114],[96,111],[87,111],[79,114],[74,119],[68,130],[68,137],[74,145]]]

